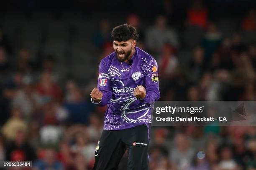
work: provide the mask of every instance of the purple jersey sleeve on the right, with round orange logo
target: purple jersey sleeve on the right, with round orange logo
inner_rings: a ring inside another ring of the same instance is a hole
[[[144,104],[153,104],[160,97],[158,65],[153,57],[148,61],[144,79],[146,96],[141,99],[141,102]]]

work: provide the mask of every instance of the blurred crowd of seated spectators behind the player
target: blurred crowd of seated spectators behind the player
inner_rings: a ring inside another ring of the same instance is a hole
[[[170,22],[177,16],[168,8],[172,1],[161,2],[163,13],[154,23],[136,14],[121,22],[137,28],[137,46],[158,62],[160,100],[255,101],[256,10],[235,20],[233,31],[211,20],[200,0],[192,1],[178,25]],[[76,61],[87,65],[79,67],[82,81],[69,74],[76,68],[68,50],[63,60],[42,52],[46,31],[34,52],[32,45],[10,40],[8,25],[0,27],[0,160],[33,161],[34,170],[92,169],[106,107],[95,107],[90,92],[100,60],[113,52],[110,32],[117,23],[102,19],[84,37],[93,57]],[[68,45],[74,45],[76,31],[68,29]],[[149,159],[150,170],[256,170],[256,127],[152,127]],[[120,170],[127,169],[127,160],[125,153]]]

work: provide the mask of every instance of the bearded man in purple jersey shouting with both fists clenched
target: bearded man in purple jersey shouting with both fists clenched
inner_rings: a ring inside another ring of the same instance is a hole
[[[131,25],[113,29],[115,52],[99,66],[92,102],[108,105],[103,132],[95,150],[93,170],[117,170],[128,150],[128,170],[148,170],[148,144],[153,104],[160,97],[156,60],[136,47]]]

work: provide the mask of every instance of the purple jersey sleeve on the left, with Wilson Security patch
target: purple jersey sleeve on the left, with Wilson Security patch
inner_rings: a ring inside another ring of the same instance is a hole
[[[93,102],[93,100],[92,102],[98,106],[107,105],[113,92],[111,90],[110,76],[108,74],[108,67],[105,60],[101,60],[100,62],[97,88],[103,93],[102,99],[98,103]]]

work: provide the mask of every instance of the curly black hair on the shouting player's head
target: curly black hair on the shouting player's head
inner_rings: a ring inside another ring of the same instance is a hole
[[[113,40],[121,42],[121,41],[128,41],[128,40],[138,40],[138,32],[136,28],[131,25],[123,24],[113,28],[111,32],[111,37]]]

